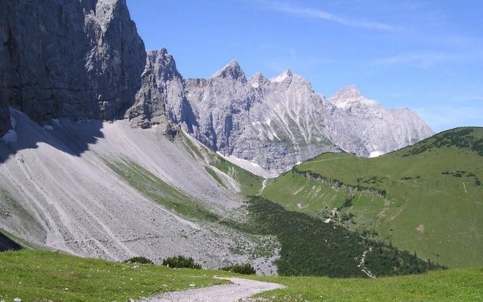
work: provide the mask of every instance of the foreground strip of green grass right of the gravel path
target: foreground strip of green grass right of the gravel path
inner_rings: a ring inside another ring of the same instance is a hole
[[[255,277],[286,285],[258,296],[270,302],[477,302],[483,301],[483,269],[431,271],[369,279]]]

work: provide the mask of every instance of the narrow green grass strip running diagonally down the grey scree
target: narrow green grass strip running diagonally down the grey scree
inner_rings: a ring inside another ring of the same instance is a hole
[[[126,181],[132,188],[135,188],[142,195],[153,202],[158,202],[165,208],[180,214],[191,220],[205,220],[215,222],[220,218],[205,206],[197,202],[196,199],[186,195],[178,188],[169,185],[149,172],[144,167],[137,165],[131,160],[120,160],[110,162],[105,160],[107,166],[118,176]]]

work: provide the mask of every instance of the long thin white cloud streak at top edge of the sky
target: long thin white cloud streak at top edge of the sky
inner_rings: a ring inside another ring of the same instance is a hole
[[[394,31],[396,28],[390,24],[385,24],[381,22],[373,22],[369,20],[352,19],[348,17],[342,17],[339,15],[334,15],[328,13],[325,10],[319,10],[315,8],[304,8],[302,6],[295,6],[287,2],[278,1],[266,1],[260,0],[266,8],[271,10],[277,10],[284,13],[290,13],[292,15],[298,15],[300,17],[315,18],[330,22],[336,22],[348,27],[362,27],[366,29],[378,29],[381,31]]]

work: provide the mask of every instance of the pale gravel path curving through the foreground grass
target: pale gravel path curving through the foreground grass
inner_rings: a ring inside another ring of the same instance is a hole
[[[237,302],[254,294],[272,289],[284,288],[284,285],[241,278],[218,278],[229,280],[233,284],[215,285],[183,292],[170,292],[154,296],[143,302]]]

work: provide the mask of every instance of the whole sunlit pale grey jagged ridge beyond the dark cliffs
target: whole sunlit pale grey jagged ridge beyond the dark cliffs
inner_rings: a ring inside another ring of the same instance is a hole
[[[434,134],[411,110],[388,110],[355,86],[327,99],[290,70],[247,80],[232,61],[209,79],[186,80],[185,91],[194,119],[176,121],[211,149],[275,174],[339,147],[376,156]]]

